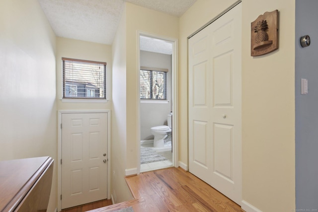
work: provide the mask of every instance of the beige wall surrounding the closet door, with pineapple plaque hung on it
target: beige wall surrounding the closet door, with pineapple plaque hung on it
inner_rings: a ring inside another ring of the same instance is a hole
[[[187,37],[235,0],[198,0],[180,18],[179,90],[187,90]],[[250,23],[280,12],[279,50],[250,57]],[[295,209],[295,0],[242,0],[242,198],[264,212]],[[179,92],[179,159],[188,161],[187,94]]]

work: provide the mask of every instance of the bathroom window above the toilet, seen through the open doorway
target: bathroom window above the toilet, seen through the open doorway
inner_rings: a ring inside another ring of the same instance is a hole
[[[167,100],[167,71],[141,67],[140,99]]]

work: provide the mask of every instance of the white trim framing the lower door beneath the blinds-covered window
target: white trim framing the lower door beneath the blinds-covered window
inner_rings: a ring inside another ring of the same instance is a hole
[[[57,158],[57,169],[58,169],[58,193],[57,193],[57,200],[58,200],[58,211],[62,210],[62,166],[61,166],[61,159],[62,159],[62,114],[66,113],[107,113],[107,199],[110,199],[110,164],[111,164],[111,157],[110,157],[110,132],[111,132],[111,113],[110,110],[59,110],[58,111],[58,158]]]

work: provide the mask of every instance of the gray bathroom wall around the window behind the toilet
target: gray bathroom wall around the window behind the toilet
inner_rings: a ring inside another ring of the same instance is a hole
[[[171,55],[140,52],[140,65],[151,68],[168,69],[167,73],[167,99],[168,103],[142,103],[141,114],[141,140],[151,140],[154,136],[150,132],[151,127],[167,125],[167,115],[171,111]]]

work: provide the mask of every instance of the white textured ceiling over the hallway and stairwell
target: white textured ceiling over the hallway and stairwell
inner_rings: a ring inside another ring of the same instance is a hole
[[[57,36],[108,45],[126,1],[179,17],[196,0],[39,0]]]

